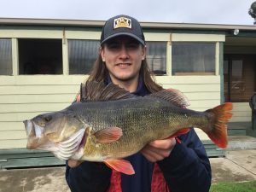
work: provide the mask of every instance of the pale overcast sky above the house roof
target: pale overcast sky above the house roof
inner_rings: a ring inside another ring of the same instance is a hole
[[[108,20],[131,15],[140,21],[253,25],[255,0],[0,0],[0,18]]]

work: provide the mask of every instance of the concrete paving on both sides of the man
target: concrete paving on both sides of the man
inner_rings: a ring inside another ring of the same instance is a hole
[[[212,183],[256,180],[256,149],[227,152],[211,158]],[[0,192],[69,192],[65,167],[0,171]]]

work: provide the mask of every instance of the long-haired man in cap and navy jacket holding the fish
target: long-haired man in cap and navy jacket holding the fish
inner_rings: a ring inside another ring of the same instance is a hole
[[[88,80],[119,84],[137,96],[162,90],[151,79],[146,50],[137,20],[127,15],[107,20],[100,55]],[[207,192],[211,185],[211,166],[194,129],[176,138],[148,143],[126,160],[135,175],[112,172],[102,163],[68,160],[67,183],[73,192]]]

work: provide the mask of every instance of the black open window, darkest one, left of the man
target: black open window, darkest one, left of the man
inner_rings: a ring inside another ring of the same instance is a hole
[[[18,39],[20,74],[62,74],[61,39]]]

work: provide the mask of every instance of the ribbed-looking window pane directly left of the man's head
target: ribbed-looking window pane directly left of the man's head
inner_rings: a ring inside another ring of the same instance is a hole
[[[96,40],[68,40],[69,74],[87,74],[99,54]]]

